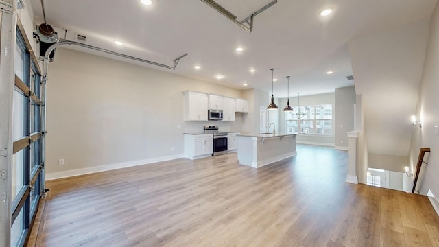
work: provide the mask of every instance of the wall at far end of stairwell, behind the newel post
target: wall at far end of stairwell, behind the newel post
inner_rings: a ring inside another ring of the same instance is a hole
[[[406,156],[409,151],[411,126],[403,123],[416,109],[429,21],[426,16],[349,41],[355,91],[362,95],[372,153]]]

